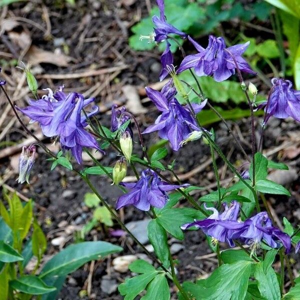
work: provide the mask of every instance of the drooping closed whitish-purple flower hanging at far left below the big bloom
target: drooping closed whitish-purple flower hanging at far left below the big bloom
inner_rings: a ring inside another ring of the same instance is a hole
[[[23,146],[22,152],[19,158],[19,176],[17,178],[18,183],[29,183],[29,175],[35,160],[35,146],[29,147]]]

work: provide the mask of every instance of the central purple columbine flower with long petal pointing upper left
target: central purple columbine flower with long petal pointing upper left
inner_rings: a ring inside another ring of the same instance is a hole
[[[150,87],[146,87],[146,93],[162,113],[153,125],[142,132],[143,134],[158,130],[159,137],[167,139],[171,148],[177,151],[192,131],[200,131],[189,108],[179,104],[176,98],[168,101],[163,93]],[[206,101],[205,99],[201,104],[192,104],[196,113],[205,106]]]

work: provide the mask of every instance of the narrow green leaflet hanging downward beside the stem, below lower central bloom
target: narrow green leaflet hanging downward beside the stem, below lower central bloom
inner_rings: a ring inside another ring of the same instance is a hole
[[[148,238],[152,244],[155,254],[160,261],[168,266],[168,244],[165,229],[159,224],[157,218],[150,220],[147,227]]]

